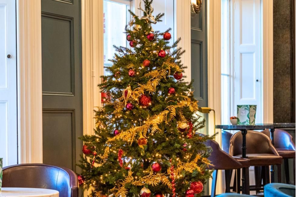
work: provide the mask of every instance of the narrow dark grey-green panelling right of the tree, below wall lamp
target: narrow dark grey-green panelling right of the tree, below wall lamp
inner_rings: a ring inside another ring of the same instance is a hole
[[[191,13],[191,79],[194,97],[200,107],[207,107],[207,32],[206,1],[199,14]]]

